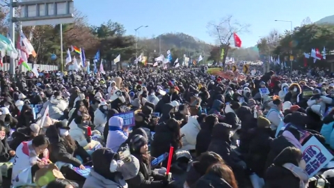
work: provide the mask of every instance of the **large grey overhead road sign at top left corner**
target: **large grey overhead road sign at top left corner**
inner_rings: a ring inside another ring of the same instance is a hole
[[[21,6],[21,14],[20,17],[15,17],[13,22],[21,22],[22,26],[74,22],[74,0],[22,0],[13,3],[13,7],[18,6]]]

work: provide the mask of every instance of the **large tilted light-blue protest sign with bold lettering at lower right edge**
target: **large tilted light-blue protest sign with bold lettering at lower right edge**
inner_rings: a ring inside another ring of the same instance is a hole
[[[329,152],[315,136],[312,136],[303,147],[303,159],[306,163],[305,171],[308,173],[308,177],[311,178],[316,175],[328,162],[333,159],[333,155]]]

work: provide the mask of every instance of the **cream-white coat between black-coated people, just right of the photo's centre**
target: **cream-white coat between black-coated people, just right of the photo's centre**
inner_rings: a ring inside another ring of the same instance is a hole
[[[196,149],[196,137],[200,132],[200,124],[197,121],[197,116],[189,117],[188,123],[184,125],[180,132],[184,134],[182,138],[182,148],[180,150],[195,150]]]

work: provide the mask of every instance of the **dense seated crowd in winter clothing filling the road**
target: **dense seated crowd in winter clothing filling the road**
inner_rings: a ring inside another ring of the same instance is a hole
[[[3,187],[334,185],[334,171],[310,164],[303,149],[315,138],[334,150],[326,75],[137,68],[0,77]]]

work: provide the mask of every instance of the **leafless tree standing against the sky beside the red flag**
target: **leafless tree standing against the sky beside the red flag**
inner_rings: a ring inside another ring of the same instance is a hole
[[[248,32],[249,26],[249,24],[240,24],[233,19],[232,15],[221,19],[218,24],[215,22],[209,22],[207,24],[209,35],[216,38],[221,49],[224,49],[223,58],[221,59],[223,66],[225,66],[225,59],[230,49],[230,42],[233,40],[233,33]]]

